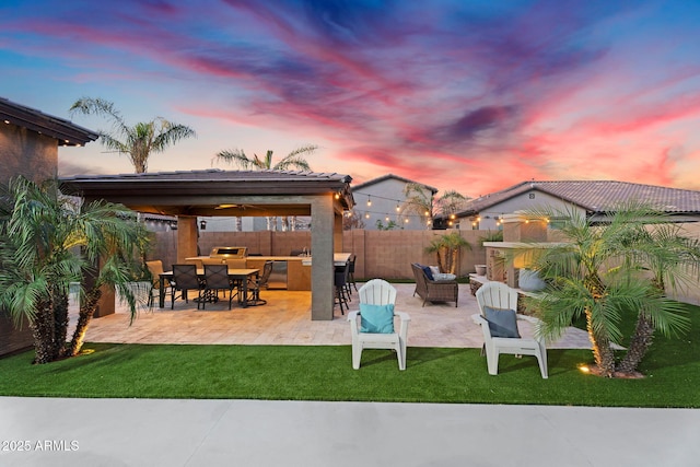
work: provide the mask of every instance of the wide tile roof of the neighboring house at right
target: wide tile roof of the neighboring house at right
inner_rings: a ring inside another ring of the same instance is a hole
[[[615,180],[532,180],[469,200],[459,215],[483,211],[529,190],[546,192],[592,213],[610,211],[630,199],[649,201],[668,213],[700,213],[700,191],[697,190]]]

